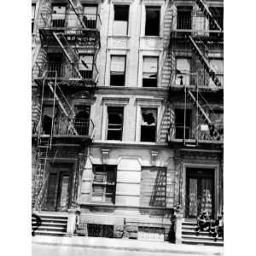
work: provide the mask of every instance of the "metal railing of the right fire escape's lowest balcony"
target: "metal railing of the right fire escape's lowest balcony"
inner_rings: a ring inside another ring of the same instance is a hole
[[[214,129],[215,128],[215,129]],[[169,131],[170,139],[184,139],[184,126],[172,123]],[[224,125],[216,122],[209,125],[199,124],[195,127],[185,127],[185,139],[199,141],[222,141],[224,139]]]

